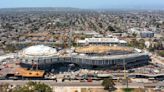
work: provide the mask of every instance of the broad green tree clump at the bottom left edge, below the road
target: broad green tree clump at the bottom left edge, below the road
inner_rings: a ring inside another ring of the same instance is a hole
[[[15,88],[13,92],[52,92],[52,88],[40,82],[28,82],[26,85]]]

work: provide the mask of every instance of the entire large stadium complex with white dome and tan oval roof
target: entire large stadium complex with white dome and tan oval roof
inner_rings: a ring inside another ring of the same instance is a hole
[[[112,69],[133,68],[148,64],[149,55],[134,48],[121,46],[85,46],[57,50],[45,45],[35,45],[18,53],[23,67],[51,69],[54,64],[77,64],[81,67],[108,67]],[[57,67],[57,66],[56,66]]]

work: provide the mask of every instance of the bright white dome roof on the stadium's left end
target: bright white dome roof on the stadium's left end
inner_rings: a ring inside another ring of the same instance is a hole
[[[57,54],[57,51],[55,48],[48,47],[45,45],[35,45],[28,48],[25,48],[20,53],[22,56],[53,56]]]

